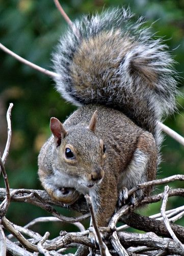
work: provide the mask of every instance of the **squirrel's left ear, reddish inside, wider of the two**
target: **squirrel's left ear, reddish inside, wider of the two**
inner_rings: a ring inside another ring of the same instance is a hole
[[[65,137],[67,132],[64,129],[63,124],[55,117],[50,118],[50,131],[56,138],[57,146],[60,146],[61,139],[63,139]]]

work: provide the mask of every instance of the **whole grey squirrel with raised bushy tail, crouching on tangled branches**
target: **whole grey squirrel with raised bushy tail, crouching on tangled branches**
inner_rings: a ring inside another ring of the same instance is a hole
[[[98,226],[108,225],[122,191],[155,179],[157,121],[175,108],[173,60],[143,25],[123,8],[84,16],[53,54],[56,88],[80,108],[63,124],[50,119],[39,178],[54,200],[71,204],[89,194]]]

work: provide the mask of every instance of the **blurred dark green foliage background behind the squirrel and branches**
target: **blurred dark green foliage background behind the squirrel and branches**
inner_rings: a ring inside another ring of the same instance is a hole
[[[145,16],[152,32],[166,40],[178,72],[178,87],[181,93],[184,70],[184,0],[67,0],[60,1],[71,18],[83,14],[100,12],[117,6],[130,6],[136,16]],[[9,49],[37,65],[51,70],[50,56],[59,37],[67,29],[67,24],[51,0],[0,0],[0,41]],[[12,111],[12,142],[6,169],[11,188],[41,189],[37,175],[37,156],[41,145],[50,135],[51,116],[64,121],[75,108],[63,100],[54,89],[54,81],[18,62],[0,50],[0,151],[3,152],[7,138],[6,111],[10,102]],[[178,111],[165,123],[184,135],[184,100],[178,97]],[[184,174],[184,147],[166,136],[162,147],[163,162],[158,177]],[[4,187],[3,178],[0,181]],[[170,183],[171,187],[184,187],[183,182]],[[157,187],[155,191],[162,191]],[[173,197],[168,201],[168,209],[183,205],[183,198]],[[71,212],[61,209],[67,215]],[[152,204],[144,214],[160,211],[160,203]],[[21,215],[20,215],[21,213]],[[32,205],[11,203],[7,217],[18,225],[24,225],[47,212]],[[184,225],[184,220],[177,222]],[[34,227],[42,234],[49,230],[51,236],[61,229],[75,230],[73,226],[58,223],[42,224]]]

